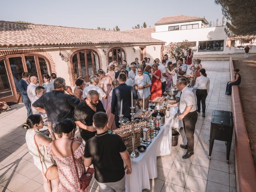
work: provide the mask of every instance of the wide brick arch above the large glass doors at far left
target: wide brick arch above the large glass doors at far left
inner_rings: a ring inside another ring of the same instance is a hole
[[[35,48],[35,49],[18,49],[18,50],[0,50],[0,56],[7,56],[11,54],[23,54],[23,53],[30,53],[30,54],[35,53],[35,54],[40,54],[44,56],[50,62],[52,73],[56,73],[56,65],[52,59],[52,56],[50,55],[50,53],[45,52],[42,49]]]

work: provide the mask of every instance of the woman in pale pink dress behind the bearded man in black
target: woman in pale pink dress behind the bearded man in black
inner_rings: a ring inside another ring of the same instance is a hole
[[[101,88],[103,88],[104,92],[107,95],[107,98],[102,98],[102,104],[104,106],[104,109],[106,110],[108,108],[108,103],[111,101],[109,99],[109,93],[112,90],[112,78],[105,74],[104,70],[99,70],[99,83],[101,85]]]

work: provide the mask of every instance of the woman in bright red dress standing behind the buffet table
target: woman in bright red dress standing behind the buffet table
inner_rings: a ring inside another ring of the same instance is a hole
[[[152,65],[151,77],[152,86],[150,100],[154,100],[154,98],[162,96],[161,70],[158,69],[157,64]]]

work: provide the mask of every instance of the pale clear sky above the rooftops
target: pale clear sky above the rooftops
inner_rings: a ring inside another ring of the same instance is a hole
[[[178,14],[222,20],[214,0],[0,0],[0,20],[80,28],[128,30]]]

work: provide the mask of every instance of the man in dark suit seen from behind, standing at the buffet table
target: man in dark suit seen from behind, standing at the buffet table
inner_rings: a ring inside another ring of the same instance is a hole
[[[122,114],[124,118],[128,118],[131,120],[131,92],[133,94],[134,99],[138,99],[137,92],[135,91],[134,87],[128,86],[125,84],[126,82],[126,75],[120,74],[119,76],[119,83],[120,85],[113,89],[112,93],[112,102],[111,102],[111,112],[115,115],[115,123],[116,127],[119,128],[119,114],[121,108],[121,100],[123,100],[123,111]]]

